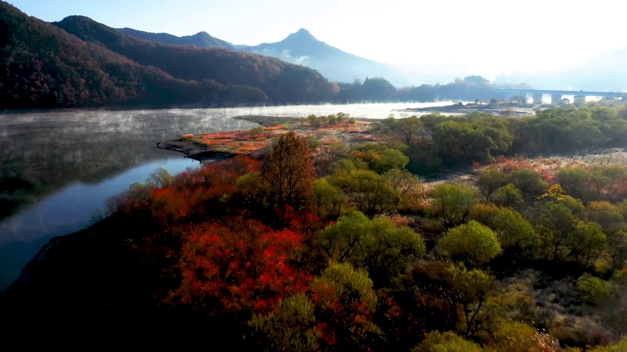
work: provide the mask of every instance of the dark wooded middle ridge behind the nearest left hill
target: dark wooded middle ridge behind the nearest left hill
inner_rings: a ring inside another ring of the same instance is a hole
[[[102,45],[140,65],[160,68],[175,78],[254,87],[276,103],[322,101],[332,88],[317,71],[277,58],[224,48],[149,42],[84,16],[69,16],[53,24],[88,43]]]

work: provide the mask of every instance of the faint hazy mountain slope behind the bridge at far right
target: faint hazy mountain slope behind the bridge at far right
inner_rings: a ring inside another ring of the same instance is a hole
[[[497,81],[525,81],[536,89],[547,90],[627,91],[627,48],[599,54],[562,70],[498,75]]]

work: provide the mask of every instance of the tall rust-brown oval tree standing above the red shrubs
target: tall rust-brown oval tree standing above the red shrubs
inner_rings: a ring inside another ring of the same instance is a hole
[[[307,138],[282,135],[261,167],[261,175],[277,192],[278,205],[300,209],[313,193],[315,170]]]

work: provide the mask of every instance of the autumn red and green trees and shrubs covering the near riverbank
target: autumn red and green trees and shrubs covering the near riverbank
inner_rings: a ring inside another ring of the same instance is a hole
[[[312,115],[258,157],[131,185],[29,264],[3,319],[224,351],[624,351],[627,168],[520,155],[624,146],[626,111],[389,118],[355,145],[315,142],[351,127]]]

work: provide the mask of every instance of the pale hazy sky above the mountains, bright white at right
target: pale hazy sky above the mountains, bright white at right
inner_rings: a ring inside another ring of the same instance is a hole
[[[365,58],[493,76],[574,65],[626,47],[627,1],[559,0],[9,0],[45,21],[80,14],[115,28],[234,44],[299,28]],[[461,67],[460,67],[461,66]]]

